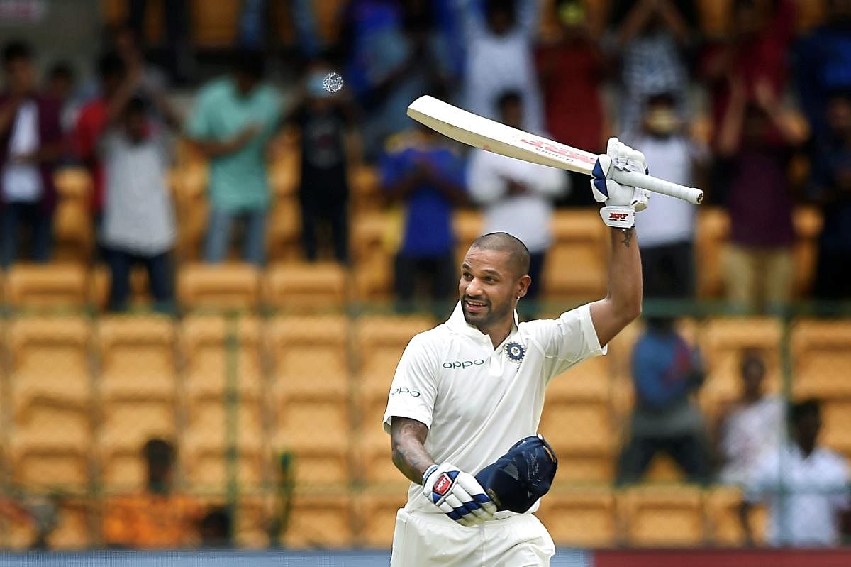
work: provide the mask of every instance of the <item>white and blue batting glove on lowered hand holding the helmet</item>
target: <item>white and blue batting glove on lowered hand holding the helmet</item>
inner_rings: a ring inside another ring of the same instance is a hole
[[[494,519],[496,505],[475,477],[452,463],[431,465],[423,475],[423,494],[449,518],[461,525]]]

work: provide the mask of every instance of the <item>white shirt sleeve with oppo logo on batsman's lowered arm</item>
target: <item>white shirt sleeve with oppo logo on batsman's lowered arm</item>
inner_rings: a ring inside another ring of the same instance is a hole
[[[384,429],[388,433],[394,415],[431,427],[437,394],[437,365],[428,346],[422,335],[416,335],[399,360],[384,414]]]

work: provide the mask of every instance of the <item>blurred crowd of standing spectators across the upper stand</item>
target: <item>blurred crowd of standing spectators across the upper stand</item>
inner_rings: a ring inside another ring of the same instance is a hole
[[[605,20],[592,18],[599,14],[580,0],[546,5],[552,14],[541,14],[545,4],[534,1],[351,0],[339,14],[339,37],[329,41],[317,32],[312,4],[294,2],[288,10],[295,44],[285,49],[283,64],[301,77],[281,83],[271,81],[266,65],[276,53],[268,49],[276,37],[268,25],[270,3],[246,2],[236,64],[200,86],[186,120],[175,116],[166,96],[170,84],[186,89],[197,77],[185,2],[167,10],[165,69],[146,60],[146,2],[135,0],[129,24],[111,32],[97,61],[96,84],[77,81],[62,61],[49,66],[40,83],[31,47],[9,43],[0,99],[0,261],[49,261],[52,174],[82,163],[94,178],[96,256],[111,266],[117,287],[110,305],[125,304],[125,272],[135,261],[157,281],[151,286],[157,300],[168,301],[174,220],[154,178],[168,167],[173,133],[191,140],[210,163],[203,259],[223,261],[239,223],[243,260],[262,265],[271,207],[265,150],[281,129],[291,128],[300,132],[307,261],[323,249],[317,235],[325,223],[334,259],[350,261],[348,173],[365,160],[379,168],[386,206],[407,207],[394,270],[400,305],[414,297],[418,267],[433,276],[432,298],[451,294],[453,286],[442,281],[453,270],[444,266],[454,241],[445,220],[459,206],[481,206],[488,229],[528,240],[540,273],[552,207],[590,205],[586,181],[564,172],[523,172],[481,152],[450,158],[456,147],[430,139],[405,114],[420,94],[438,94],[592,152],[619,135],[646,153],[654,175],[706,187],[708,200],[727,209],[731,220],[723,266],[727,299],[745,306],[792,299],[792,210],[812,203],[825,218],[812,296],[848,298],[842,277],[849,252],[843,237],[851,226],[848,3],[826,0],[824,23],[798,34],[791,0],[735,0],[722,37],[701,34],[699,7],[691,0],[613,0]],[[557,30],[540,37],[545,16]],[[345,87],[333,93],[323,79],[337,71]],[[118,112],[126,94],[128,106]],[[286,105],[283,94],[292,94]],[[141,135],[129,135],[122,146],[109,134],[119,124],[132,128],[125,114],[137,118]],[[701,115],[708,127],[696,129]],[[790,175],[801,170],[791,167],[797,163],[808,164],[805,175]],[[144,175],[131,180],[130,171]],[[155,197],[135,218],[127,203],[110,203],[148,191]],[[522,215],[514,214],[517,207]],[[656,196],[637,219],[648,297],[693,298],[694,208]],[[157,235],[138,241],[132,227],[151,222]],[[540,296],[541,279],[534,282],[532,295]]]

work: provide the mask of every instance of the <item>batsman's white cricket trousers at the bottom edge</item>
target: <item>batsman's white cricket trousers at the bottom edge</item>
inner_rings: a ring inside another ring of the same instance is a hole
[[[396,514],[391,567],[548,567],[556,553],[544,524],[518,514],[467,528],[441,513]]]

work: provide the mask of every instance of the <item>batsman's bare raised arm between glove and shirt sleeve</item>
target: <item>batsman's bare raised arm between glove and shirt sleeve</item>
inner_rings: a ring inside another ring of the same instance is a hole
[[[641,255],[635,230],[612,228],[609,231],[612,254],[608,261],[608,295],[603,300],[591,303],[591,321],[594,322],[601,346],[607,345],[626,325],[641,315]]]

